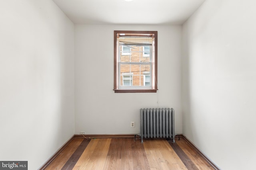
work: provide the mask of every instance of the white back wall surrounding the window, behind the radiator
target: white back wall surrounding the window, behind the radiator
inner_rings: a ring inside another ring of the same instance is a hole
[[[157,93],[114,93],[114,30],[158,31]],[[182,133],[180,65],[181,26],[75,25],[75,133],[138,134],[143,107],[173,107]]]

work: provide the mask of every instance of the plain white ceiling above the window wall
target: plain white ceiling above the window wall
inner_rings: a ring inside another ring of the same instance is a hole
[[[76,24],[182,24],[205,0],[53,0]]]

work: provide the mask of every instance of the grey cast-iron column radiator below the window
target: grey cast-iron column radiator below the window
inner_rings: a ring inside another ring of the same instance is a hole
[[[172,138],[174,133],[174,109],[140,109],[140,138]]]

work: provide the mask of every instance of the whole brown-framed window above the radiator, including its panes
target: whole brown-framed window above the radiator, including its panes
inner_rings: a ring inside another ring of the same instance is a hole
[[[157,91],[157,31],[114,31],[114,91]]]

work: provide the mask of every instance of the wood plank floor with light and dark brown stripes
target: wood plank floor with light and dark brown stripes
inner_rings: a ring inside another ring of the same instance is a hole
[[[45,170],[214,170],[183,138],[74,138]]]

